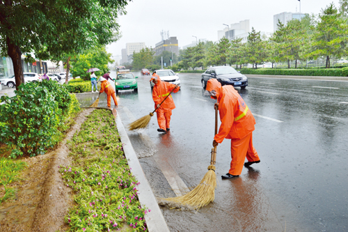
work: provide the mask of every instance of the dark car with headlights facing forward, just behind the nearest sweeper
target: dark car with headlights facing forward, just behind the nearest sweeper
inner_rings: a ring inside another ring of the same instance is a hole
[[[248,86],[248,78],[230,66],[218,66],[205,70],[200,80],[204,89],[208,80],[212,78],[216,78],[221,83],[221,86],[231,85],[241,88]]]

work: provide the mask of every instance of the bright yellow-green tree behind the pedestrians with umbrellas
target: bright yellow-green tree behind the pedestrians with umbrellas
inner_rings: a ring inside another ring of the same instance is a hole
[[[82,79],[90,79],[90,68],[99,68],[100,71],[95,72],[95,75],[103,75],[109,71],[108,63],[113,63],[111,53],[107,53],[105,47],[95,47],[84,54],[79,54],[76,59],[72,59],[72,75],[74,77],[80,76]]]

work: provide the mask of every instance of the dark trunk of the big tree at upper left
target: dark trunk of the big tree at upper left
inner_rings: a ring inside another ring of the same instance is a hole
[[[15,72],[16,90],[18,86],[24,83],[23,66],[22,66],[22,51],[17,46],[10,42],[10,38],[6,38],[6,44],[8,46],[7,54],[10,56],[13,62],[13,70]]]

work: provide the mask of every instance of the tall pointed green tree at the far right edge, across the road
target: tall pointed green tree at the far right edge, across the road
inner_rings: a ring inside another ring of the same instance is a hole
[[[346,54],[348,40],[347,20],[340,17],[333,3],[319,14],[319,22],[313,34],[313,56],[326,56],[326,68],[330,68],[330,57]]]

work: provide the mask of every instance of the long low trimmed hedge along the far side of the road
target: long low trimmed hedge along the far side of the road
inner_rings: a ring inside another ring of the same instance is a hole
[[[289,75],[289,76],[324,76],[324,77],[348,77],[348,68],[327,69],[299,69],[299,68],[243,68],[242,74],[253,75]]]

